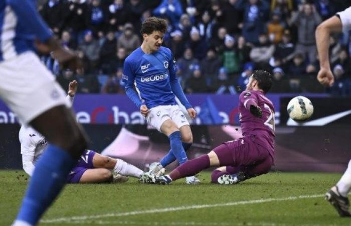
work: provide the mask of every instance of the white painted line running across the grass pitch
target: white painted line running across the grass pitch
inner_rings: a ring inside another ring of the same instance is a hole
[[[245,205],[245,204],[264,203],[264,202],[273,202],[273,201],[288,201],[288,200],[296,200],[296,199],[303,199],[303,198],[317,198],[322,196],[323,196],[322,194],[313,194],[313,195],[290,196],[285,198],[267,198],[267,199],[254,199],[254,200],[247,200],[247,201],[226,202],[226,203],[205,204],[205,205],[188,205],[188,206],[167,207],[167,208],[160,208],[160,209],[136,210],[136,211],[130,211],[130,212],[105,213],[100,215],[60,217],[60,218],[53,218],[53,219],[43,219],[41,220],[41,222],[42,223],[70,222],[75,220],[88,220],[88,219],[99,219],[99,218],[106,218],[106,217],[173,212],[173,211],[188,210],[188,209],[202,209],[202,208],[213,208],[213,207],[222,207],[222,206]]]

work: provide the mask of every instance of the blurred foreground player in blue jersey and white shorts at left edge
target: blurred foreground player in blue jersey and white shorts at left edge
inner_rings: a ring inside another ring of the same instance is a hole
[[[0,97],[24,125],[49,142],[13,224],[31,226],[60,193],[87,144],[65,91],[35,54],[35,43],[63,66],[76,68],[80,63],[53,38],[33,0],[0,1],[0,33]]]

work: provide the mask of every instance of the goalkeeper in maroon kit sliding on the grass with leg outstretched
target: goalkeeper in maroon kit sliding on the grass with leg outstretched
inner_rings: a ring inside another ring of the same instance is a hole
[[[239,97],[239,116],[243,137],[225,142],[207,155],[185,162],[165,176],[144,173],[144,183],[168,184],[201,170],[221,166],[212,173],[212,182],[236,184],[268,173],[274,159],[274,106],[265,96],[272,76],[267,71],[254,71],[247,89]]]

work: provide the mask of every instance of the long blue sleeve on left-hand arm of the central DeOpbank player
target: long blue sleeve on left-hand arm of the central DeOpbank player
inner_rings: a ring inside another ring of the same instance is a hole
[[[139,98],[138,93],[133,88],[135,74],[132,70],[132,64],[128,60],[124,61],[122,80],[125,84],[124,86],[125,93],[129,97],[129,99],[131,99],[135,103],[135,105],[138,108],[140,108],[140,106],[142,105],[142,102]]]

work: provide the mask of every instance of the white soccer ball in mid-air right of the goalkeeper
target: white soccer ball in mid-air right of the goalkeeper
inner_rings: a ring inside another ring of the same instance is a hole
[[[313,114],[313,105],[311,100],[304,96],[296,96],[288,103],[288,115],[296,122],[309,120]]]

